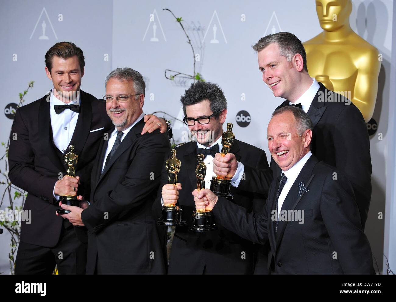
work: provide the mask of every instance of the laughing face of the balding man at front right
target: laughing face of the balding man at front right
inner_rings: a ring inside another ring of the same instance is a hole
[[[291,112],[276,114],[268,123],[268,149],[283,171],[293,167],[309,152],[311,138],[310,129],[299,136],[296,120]]]

